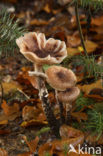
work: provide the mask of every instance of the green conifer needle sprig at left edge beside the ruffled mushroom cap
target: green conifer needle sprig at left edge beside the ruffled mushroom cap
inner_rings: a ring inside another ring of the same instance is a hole
[[[14,20],[13,16],[3,9],[0,12],[0,56],[13,54],[16,46],[16,38],[23,35],[26,31],[19,26],[19,20]]]

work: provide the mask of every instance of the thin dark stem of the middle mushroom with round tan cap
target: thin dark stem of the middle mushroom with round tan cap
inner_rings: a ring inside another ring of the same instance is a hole
[[[65,121],[65,118],[63,116],[63,104],[62,102],[59,102],[58,100],[58,91],[55,90],[55,98],[56,98],[56,102],[57,102],[57,105],[59,105],[59,109],[60,109],[60,124],[62,125]]]

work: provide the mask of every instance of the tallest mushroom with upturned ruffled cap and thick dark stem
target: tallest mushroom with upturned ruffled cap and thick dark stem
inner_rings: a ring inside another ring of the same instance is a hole
[[[48,100],[48,92],[45,87],[45,76],[43,74],[43,64],[59,64],[67,56],[66,44],[64,41],[49,38],[46,40],[43,33],[30,32],[16,40],[20,52],[34,64],[34,75],[37,75],[39,97],[42,107],[47,117],[47,121],[58,137],[59,125]],[[30,72],[30,74],[32,74]],[[33,74],[32,74],[33,75]]]

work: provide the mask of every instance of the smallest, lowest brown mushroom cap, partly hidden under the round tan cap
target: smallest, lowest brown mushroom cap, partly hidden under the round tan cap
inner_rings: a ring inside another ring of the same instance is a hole
[[[61,102],[73,102],[80,94],[80,89],[78,87],[68,88],[64,92],[58,92],[58,100]]]

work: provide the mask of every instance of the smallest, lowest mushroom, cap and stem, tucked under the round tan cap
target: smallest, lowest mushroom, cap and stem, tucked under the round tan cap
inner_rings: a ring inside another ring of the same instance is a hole
[[[66,122],[68,123],[69,112],[72,107],[72,102],[76,100],[79,96],[80,90],[78,87],[71,87],[66,89],[66,91],[58,92],[58,100],[63,102],[66,106]]]

